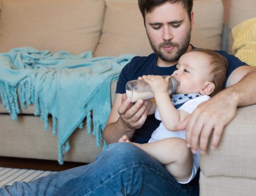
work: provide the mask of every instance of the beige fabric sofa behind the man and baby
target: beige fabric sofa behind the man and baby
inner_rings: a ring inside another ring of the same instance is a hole
[[[223,2],[194,0],[194,46],[232,53],[231,29],[255,17],[256,2]],[[94,57],[153,52],[137,0],[1,0],[0,52],[23,46],[72,54],[91,51]],[[112,103],[115,88],[116,81],[109,89]],[[18,120],[13,121],[0,104],[0,156],[57,160],[57,137],[51,128],[45,131],[34,110],[33,105],[21,108]],[[254,194],[255,110],[256,105],[238,108],[220,146],[200,157],[200,195]],[[49,123],[52,127],[51,117]],[[70,147],[64,161],[91,163],[102,151],[86,127],[74,131]]]

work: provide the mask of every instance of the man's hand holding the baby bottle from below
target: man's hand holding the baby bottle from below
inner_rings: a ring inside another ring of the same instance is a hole
[[[147,101],[141,99],[133,105],[131,99],[127,99],[126,94],[123,94],[122,103],[118,107],[119,120],[127,129],[140,128],[147,117],[146,105]]]

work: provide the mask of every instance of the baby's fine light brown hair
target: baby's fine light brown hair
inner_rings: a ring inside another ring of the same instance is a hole
[[[227,75],[227,59],[220,55],[219,53],[208,50],[196,48],[191,50],[190,52],[202,52],[208,56],[208,78],[209,82],[215,84],[214,91],[210,94],[210,96],[216,95],[218,92],[222,90],[223,83],[225,82]]]

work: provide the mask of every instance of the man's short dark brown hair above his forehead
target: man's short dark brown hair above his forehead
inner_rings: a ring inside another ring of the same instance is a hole
[[[165,3],[179,3],[182,2],[184,8],[187,11],[189,21],[191,22],[191,11],[193,7],[193,0],[138,0],[140,12],[144,19],[145,24],[145,14],[150,13],[155,7],[160,6]]]

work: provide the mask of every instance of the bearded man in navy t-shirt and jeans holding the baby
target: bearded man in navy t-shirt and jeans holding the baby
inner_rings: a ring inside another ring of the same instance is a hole
[[[142,75],[167,75],[175,71],[179,57],[192,48],[189,45],[194,25],[192,5],[192,0],[139,0],[155,53],[133,58],[120,74],[116,99],[103,132],[108,144],[117,142],[122,135],[145,143],[158,126],[154,116],[146,114],[146,101],[139,100],[133,105],[126,99],[125,82]],[[216,148],[223,127],[236,115],[237,106],[256,103],[255,70],[244,66],[245,63],[236,57],[221,54],[229,61],[227,89],[201,104],[179,125],[180,129],[186,127],[187,146],[192,151],[199,147],[201,153],[205,153],[211,133],[211,147]],[[198,195],[198,179],[199,173],[190,183],[180,184],[143,150],[122,142],[110,144],[94,163],[28,184],[6,186],[0,189],[0,195]]]

